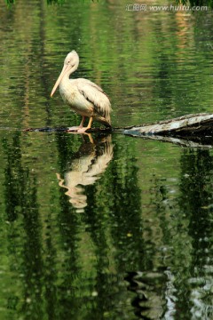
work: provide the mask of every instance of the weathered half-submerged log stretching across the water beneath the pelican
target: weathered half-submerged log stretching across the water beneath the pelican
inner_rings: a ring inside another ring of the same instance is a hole
[[[29,128],[28,132],[67,132],[67,128]],[[195,114],[179,116],[170,120],[160,121],[154,124],[141,124],[137,126],[117,128],[91,128],[87,133],[100,134],[122,133],[134,137],[143,137],[153,140],[185,145],[187,147],[210,147],[213,145],[213,114]],[[77,133],[77,132],[73,132]],[[185,141],[187,140],[187,142]]]

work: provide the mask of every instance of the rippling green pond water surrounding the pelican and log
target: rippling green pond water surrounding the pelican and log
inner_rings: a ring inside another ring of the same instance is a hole
[[[114,126],[212,112],[212,12],[0,4],[0,319],[212,319],[211,148],[22,131],[80,121],[73,49]]]

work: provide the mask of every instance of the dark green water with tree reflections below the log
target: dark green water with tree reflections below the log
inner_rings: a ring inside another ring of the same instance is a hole
[[[3,140],[3,318],[210,319],[212,152],[39,133],[46,167],[34,135]]]

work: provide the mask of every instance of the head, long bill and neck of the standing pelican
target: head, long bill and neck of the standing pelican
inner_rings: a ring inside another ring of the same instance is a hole
[[[59,83],[61,82],[61,80],[63,79],[64,76],[69,76],[71,75],[76,68],[78,68],[78,64],[79,64],[79,57],[77,52],[75,52],[75,50],[73,50],[72,52],[69,52],[67,54],[67,57],[64,60],[64,67],[62,68],[59,78],[56,81],[52,91],[51,91],[51,97],[53,96],[54,92],[56,91]]]

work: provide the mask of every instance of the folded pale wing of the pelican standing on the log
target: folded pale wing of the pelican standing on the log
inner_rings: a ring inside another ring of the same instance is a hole
[[[85,99],[93,104],[99,115],[104,116],[107,120],[111,111],[111,104],[106,93],[99,85],[92,83],[90,80],[79,78],[77,79],[77,87]]]

